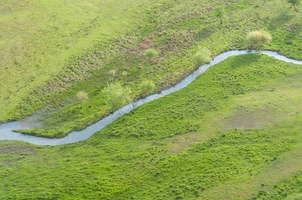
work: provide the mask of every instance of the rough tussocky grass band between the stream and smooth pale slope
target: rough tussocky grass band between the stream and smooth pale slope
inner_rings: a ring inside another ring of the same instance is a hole
[[[169,88],[196,69],[193,55],[198,46],[208,47],[213,56],[230,49],[245,48],[246,35],[254,30],[266,30],[272,35],[271,44],[264,46],[264,49],[301,59],[300,14],[291,12],[284,1],[147,3],[138,6],[141,8],[140,13],[130,12],[131,16],[139,17],[128,16],[138,20],[131,21],[129,30],[121,29],[120,34],[112,37],[97,37],[98,32],[93,30],[103,26],[98,18],[93,23],[89,22],[92,25],[87,25],[90,27],[87,33],[90,33],[88,36],[95,36],[94,46],[80,51],[82,53],[73,53],[62,61],[60,71],[47,79],[45,84],[27,90],[26,95],[22,94],[23,100],[14,109],[7,106],[6,109],[11,110],[6,121],[24,119],[36,113],[42,128],[24,133],[51,138],[64,137],[72,130],[85,129],[111,112],[101,93],[108,82],[118,81],[123,87],[130,87],[133,99],[140,97],[138,85],[145,79],[156,83],[158,91]],[[213,15],[215,6],[220,4],[226,8],[223,24]],[[133,6],[128,5],[129,11]],[[128,15],[127,11],[124,12]],[[120,23],[128,22],[130,20]],[[114,25],[119,27],[118,24]],[[110,31],[109,28],[106,30]],[[85,34],[83,37],[86,37]],[[144,54],[148,48],[159,52],[153,62]],[[114,77],[108,74],[111,70],[115,70]],[[21,87],[21,83],[15,83]],[[81,90],[86,91],[89,97],[83,109],[78,108],[76,99],[77,92]],[[4,104],[11,105],[8,102],[12,99],[15,102],[21,96],[17,93],[9,96],[5,94]]]

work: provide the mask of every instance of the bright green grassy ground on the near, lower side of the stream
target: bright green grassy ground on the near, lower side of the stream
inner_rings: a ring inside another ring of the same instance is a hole
[[[87,141],[0,142],[3,199],[291,199],[301,193],[302,67],[249,54]]]

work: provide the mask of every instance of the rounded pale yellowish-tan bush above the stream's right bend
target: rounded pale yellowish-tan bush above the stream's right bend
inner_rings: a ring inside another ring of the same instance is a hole
[[[249,49],[259,49],[264,44],[269,43],[271,40],[272,37],[268,33],[261,31],[250,32],[247,36]]]

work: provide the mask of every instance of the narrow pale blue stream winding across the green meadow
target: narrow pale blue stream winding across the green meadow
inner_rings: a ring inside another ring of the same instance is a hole
[[[234,51],[224,52],[224,53],[218,55],[217,57],[215,57],[215,59],[211,63],[205,64],[205,65],[199,67],[196,71],[194,71],[192,74],[187,76],[185,79],[183,79],[181,82],[176,84],[174,87],[163,90],[162,93],[160,93],[160,94],[156,93],[156,94],[147,96],[144,99],[139,99],[137,102],[135,102],[135,104],[136,104],[135,108],[140,105],[143,105],[147,102],[151,102],[154,99],[160,98],[162,96],[165,96],[167,94],[170,94],[172,92],[175,92],[177,90],[180,90],[180,89],[186,87],[193,80],[195,80],[200,74],[205,72],[210,66],[213,66],[213,65],[225,60],[226,58],[229,58],[230,56],[243,55],[243,54],[249,54],[249,53],[261,53],[261,54],[265,54],[268,56],[272,56],[278,60],[282,60],[285,62],[291,62],[294,64],[302,64],[302,61],[290,59],[290,58],[279,55],[278,53],[272,52],[272,51],[247,52],[246,50],[234,50]],[[51,138],[42,138],[42,137],[36,137],[36,136],[30,136],[30,135],[24,135],[21,133],[16,133],[16,132],[13,132],[13,130],[20,129],[20,128],[23,128],[23,129],[30,128],[30,127],[24,126],[24,124],[22,124],[22,122],[19,122],[19,121],[11,122],[11,123],[0,125],[0,140],[21,140],[21,141],[26,141],[26,142],[36,144],[36,145],[61,145],[61,144],[75,143],[75,142],[79,142],[79,141],[88,139],[90,136],[92,136],[97,131],[102,130],[108,124],[114,122],[115,120],[124,116],[125,114],[129,113],[132,110],[133,110],[132,104],[124,106],[123,108],[117,110],[112,115],[109,115],[108,117],[102,119],[101,121],[87,127],[85,130],[73,131],[72,133],[70,133],[69,135],[67,135],[64,138],[51,139]]]

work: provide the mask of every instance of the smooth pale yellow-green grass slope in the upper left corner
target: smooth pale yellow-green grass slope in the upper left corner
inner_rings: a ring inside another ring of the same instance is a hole
[[[66,72],[61,70],[69,65],[67,60],[73,55],[82,55],[96,43],[116,40],[133,31],[143,22],[137,16],[156,3],[132,0],[2,1],[0,99],[3,104],[0,105],[0,120],[11,118],[9,112],[37,85]],[[104,51],[111,49],[108,47]]]

